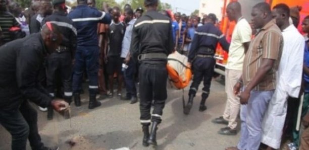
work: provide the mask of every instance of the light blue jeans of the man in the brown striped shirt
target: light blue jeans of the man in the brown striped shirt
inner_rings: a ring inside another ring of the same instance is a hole
[[[272,91],[251,91],[247,105],[240,106],[241,135],[237,145],[240,150],[258,150],[262,140],[262,121]]]

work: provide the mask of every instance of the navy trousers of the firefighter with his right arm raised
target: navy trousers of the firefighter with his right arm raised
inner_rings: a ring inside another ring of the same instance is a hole
[[[83,72],[86,65],[89,79],[89,95],[96,95],[98,91],[98,56],[98,46],[77,46],[73,70],[73,93],[79,93],[81,90]]]

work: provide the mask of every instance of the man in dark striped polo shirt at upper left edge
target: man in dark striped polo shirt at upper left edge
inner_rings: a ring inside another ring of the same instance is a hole
[[[4,36],[4,38],[1,39],[1,44],[13,40],[13,37],[10,35],[10,28],[20,27],[20,24],[16,21],[15,17],[8,12],[7,5],[7,0],[0,0],[0,27]]]

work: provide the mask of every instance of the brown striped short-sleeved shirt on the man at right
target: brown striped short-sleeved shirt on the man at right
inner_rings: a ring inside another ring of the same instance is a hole
[[[276,71],[283,48],[283,37],[275,20],[266,24],[251,41],[243,63],[243,82],[247,86],[254,78],[264,58],[275,60],[262,81],[253,90],[270,91],[276,88]]]

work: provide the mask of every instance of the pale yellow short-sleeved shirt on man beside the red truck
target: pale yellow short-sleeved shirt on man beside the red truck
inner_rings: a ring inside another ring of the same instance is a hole
[[[229,48],[229,57],[226,64],[227,69],[242,70],[244,59],[243,43],[250,42],[252,30],[244,18],[240,18],[234,28],[232,41]]]

